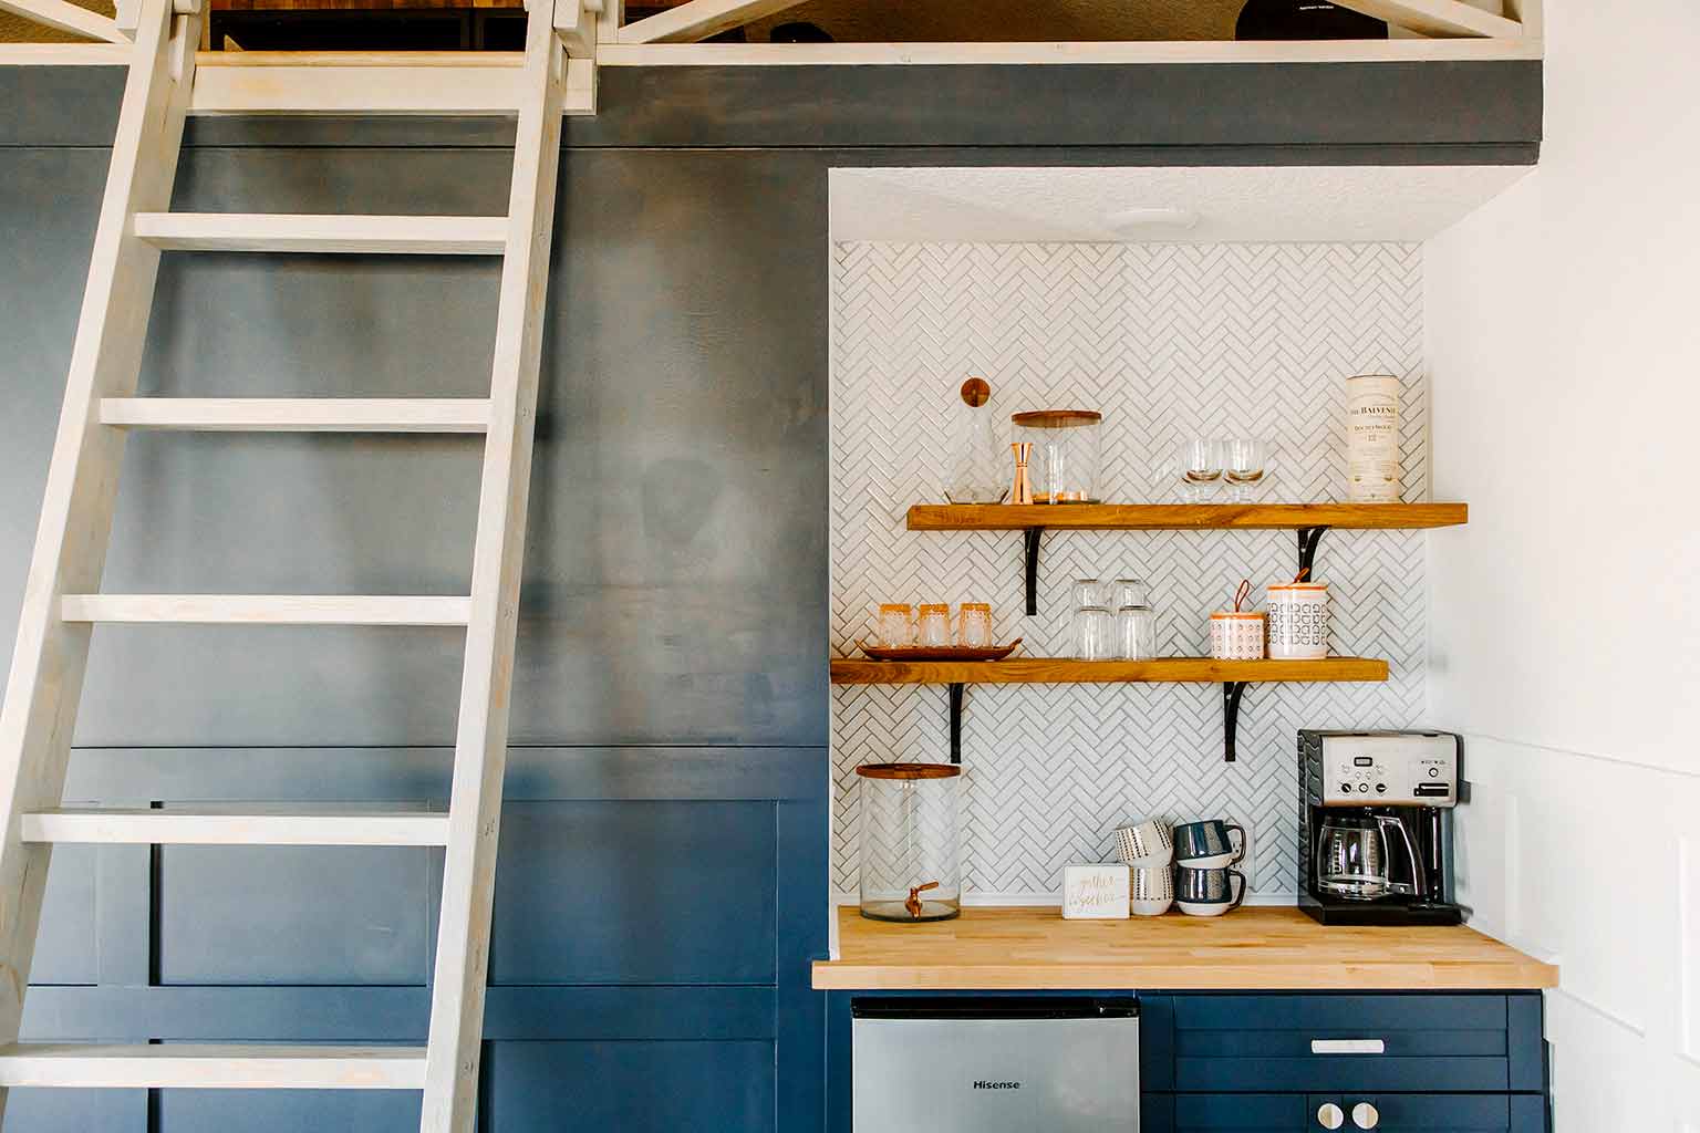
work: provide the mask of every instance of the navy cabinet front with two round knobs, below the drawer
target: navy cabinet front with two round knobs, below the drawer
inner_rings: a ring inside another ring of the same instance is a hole
[[[1151,1094],[1141,1133],[1316,1133],[1326,1104],[1346,1116],[1375,1106],[1377,1133],[1547,1133],[1545,1102],[1530,1094]]]

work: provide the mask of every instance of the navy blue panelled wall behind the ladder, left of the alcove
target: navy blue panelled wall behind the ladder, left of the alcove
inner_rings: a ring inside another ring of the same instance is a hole
[[[0,143],[5,637],[104,166]],[[177,204],[488,214],[507,166],[201,148]],[[824,183],[816,155],[564,158],[486,1130],[824,1118]],[[173,255],[143,392],[471,396],[493,324],[488,263]],[[466,438],[136,437],[107,588],[462,591],[476,481]],[[68,798],[442,807],[459,668],[445,632],[102,630]],[[427,849],[66,849],[26,1034],[416,1043],[439,888]],[[19,1091],[7,1128],[388,1133],[416,1113],[411,1094]]]

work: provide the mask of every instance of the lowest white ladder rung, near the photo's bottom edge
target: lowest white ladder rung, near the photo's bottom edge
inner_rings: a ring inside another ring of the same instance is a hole
[[[423,1046],[0,1046],[0,1087],[425,1089]]]

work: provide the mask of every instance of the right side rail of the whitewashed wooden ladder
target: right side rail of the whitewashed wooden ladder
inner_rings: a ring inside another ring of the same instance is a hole
[[[491,367],[490,437],[473,550],[473,617],[461,678],[422,1133],[471,1133],[478,1104],[564,68],[552,5],[532,0]]]

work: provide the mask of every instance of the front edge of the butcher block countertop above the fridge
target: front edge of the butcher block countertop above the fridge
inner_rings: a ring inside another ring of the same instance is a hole
[[[1559,985],[1559,970],[1523,963],[1306,965],[1302,975],[1260,963],[903,965],[814,961],[814,990],[1151,990],[1151,992],[1508,992]]]

